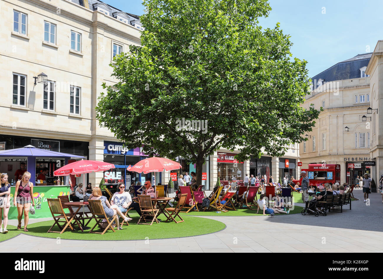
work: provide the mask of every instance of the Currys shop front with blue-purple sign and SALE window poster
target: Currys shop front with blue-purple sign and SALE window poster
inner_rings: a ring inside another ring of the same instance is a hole
[[[134,184],[144,184],[145,181],[152,181],[152,176],[155,175],[157,184],[161,181],[161,173],[153,172],[148,174],[141,174],[137,172],[128,171],[126,168],[137,164],[142,159],[148,158],[141,152],[141,148],[126,148],[123,143],[114,141],[104,141],[104,162],[115,165],[115,169],[104,172],[104,179],[106,183],[119,183],[125,184],[126,189],[134,182]]]

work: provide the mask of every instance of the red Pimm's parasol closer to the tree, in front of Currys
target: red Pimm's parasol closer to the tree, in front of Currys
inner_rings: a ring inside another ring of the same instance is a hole
[[[139,161],[133,167],[129,165],[129,167],[127,167],[126,169],[128,171],[135,171],[138,173],[143,172],[144,174],[147,174],[149,172],[162,172],[162,171],[172,171],[173,169],[182,169],[182,166],[180,163],[177,163],[175,161],[172,161],[166,158],[151,157],[151,158],[146,158]],[[157,187],[155,185],[155,178],[154,178],[154,189],[155,189],[154,191],[157,190]]]

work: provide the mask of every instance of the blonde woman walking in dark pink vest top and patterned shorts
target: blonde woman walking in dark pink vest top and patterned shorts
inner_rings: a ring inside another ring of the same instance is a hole
[[[17,206],[18,230],[21,229],[21,219],[23,219],[24,210],[24,231],[28,231],[26,226],[29,221],[29,208],[31,208],[31,204],[34,206],[33,183],[29,179],[31,179],[31,173],[28,171],[24,172],[21,181],[16,182],[15,199],[13,200],[13,203]]]

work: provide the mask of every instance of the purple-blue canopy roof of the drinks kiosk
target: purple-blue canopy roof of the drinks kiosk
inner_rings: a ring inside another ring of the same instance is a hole
[[[23,148],[15,148],[0,151],[0,157],[18,157],[18,156],[33,156],[33,157],[61,157],[61,158],[72,158],[72,159],[82,159],[83,156],[61,153],[46,149],[36,148],[32,145],[24,146]]]

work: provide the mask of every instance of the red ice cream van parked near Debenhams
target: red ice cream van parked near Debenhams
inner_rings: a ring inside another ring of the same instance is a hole
[[[308,169],[301,169],[306,171],[306,175],[310,180],[310,185],[324,184],[331,182],[332,184],[338,182],[340,184],[340,165],[339,164],[309,164]],[[293,181],[295,184],[298,180]],[[302,177],[299,180],[301,185]]]

